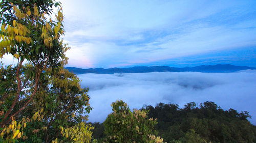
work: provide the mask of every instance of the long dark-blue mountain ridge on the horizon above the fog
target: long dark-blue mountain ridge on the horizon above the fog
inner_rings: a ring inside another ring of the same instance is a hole
[[[90,68],[90,69],[80,69],[75,67],[67,67],[71,72],[75,74],[84,73],[98,73],[98,74],[113,74],[113,73],[146,73],[146,72],[236,72],[240,70],[255,70],[253,67],[246,66],[233,66],[227,65],[214,65],[214,66],[196,66],[196,67],[185,67],[185,68],[175,68],[168,66],[153,66],[153,67],[132,67],[132,68]]]

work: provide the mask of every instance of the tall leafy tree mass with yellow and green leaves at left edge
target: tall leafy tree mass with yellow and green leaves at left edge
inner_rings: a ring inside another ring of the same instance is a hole
[[[54,7],[55,20],[46,18]],[[74,134],[68,131],[78,129],[82,134],[73,141],[90,142],[93,128],[81,123],[92,109],[88,89],[63,69],[70,47],[60,39],[64,34],[60,3],[3,0],[0,8],[0,58],[11,54],[17,61],[7,67],[1,62],[0,139],[69,140]]]

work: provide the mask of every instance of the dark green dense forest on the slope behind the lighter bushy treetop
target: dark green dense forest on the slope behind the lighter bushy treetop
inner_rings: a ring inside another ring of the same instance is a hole
[[[256,126],[247,120],[248,112],[223,110],[214,102],[177,104],[159,103],[144,106],[148,119],[157,119],[155,129],[165,142],[256,142]],[[94,126],[93,137],[103,140],[105,123]]]

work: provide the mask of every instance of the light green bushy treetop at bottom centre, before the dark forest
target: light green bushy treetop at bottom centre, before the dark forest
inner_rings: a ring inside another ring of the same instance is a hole
[[[156,119],[147,119],[146,111],[133,112],[122,100],[113,102],[113,112],[104,121],[106,142],[162,142],[156,137]]]

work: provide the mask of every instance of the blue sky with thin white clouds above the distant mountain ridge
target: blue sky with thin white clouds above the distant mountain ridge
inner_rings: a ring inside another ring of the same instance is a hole
[[[60,2],[67,67],[256,67],[256,1]]]

